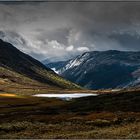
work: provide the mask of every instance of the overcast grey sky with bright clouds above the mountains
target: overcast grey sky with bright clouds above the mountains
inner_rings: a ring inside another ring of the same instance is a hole
[[[0,38],[38,60],[140,51],[140,2],[1,2]]]

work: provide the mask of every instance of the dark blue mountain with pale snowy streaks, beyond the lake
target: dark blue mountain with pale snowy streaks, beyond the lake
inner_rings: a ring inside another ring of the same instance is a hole
[[[56,68],[62,77],[89,89],[140,85],[140,52],[92,51],[67,61],[59,69],[60,62],[47,65]]]

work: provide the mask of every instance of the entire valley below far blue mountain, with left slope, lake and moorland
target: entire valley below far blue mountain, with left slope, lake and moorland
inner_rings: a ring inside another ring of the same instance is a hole
[[[0,40],[0,139],[140,138],[139,101],[139,86],[90,90]]]

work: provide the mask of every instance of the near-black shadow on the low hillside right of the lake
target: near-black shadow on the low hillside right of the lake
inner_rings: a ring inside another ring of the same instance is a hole
[[[71,101],[66,109],[72,112],[140,112],[140,91],[79,98]]]

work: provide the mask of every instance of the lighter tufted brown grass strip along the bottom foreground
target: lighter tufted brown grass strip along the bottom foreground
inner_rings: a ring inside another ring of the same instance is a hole
[[[42,139],[97,139],[97,138],[140,138],[140,122],[98,127],[93,123],[64,121],[44,123],[20,121],[0,125],[1,138]]]

